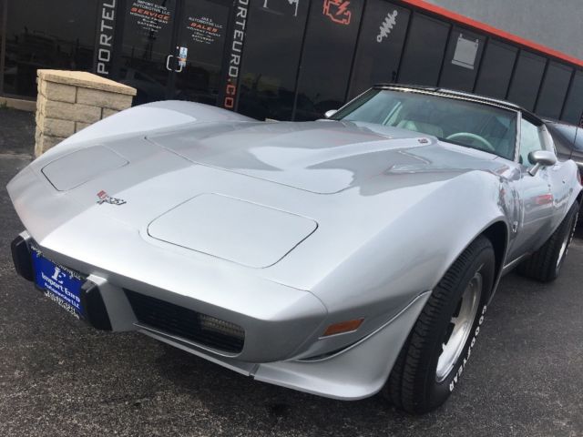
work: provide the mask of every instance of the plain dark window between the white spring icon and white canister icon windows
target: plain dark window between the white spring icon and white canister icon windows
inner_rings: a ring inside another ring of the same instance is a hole
[[[399,82],[436,86],[444,59],[450,25],[414,14],[404,48]]]

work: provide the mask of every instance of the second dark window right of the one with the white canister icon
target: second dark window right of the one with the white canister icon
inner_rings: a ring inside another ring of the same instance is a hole
[[[523,51],[517,62],[508,100],[533,111],[547,61],[544,57]]]

